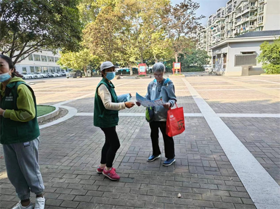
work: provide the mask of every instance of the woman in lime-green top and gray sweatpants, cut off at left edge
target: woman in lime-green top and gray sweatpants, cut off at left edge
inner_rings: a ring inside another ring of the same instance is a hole
[[[36,98],[32,88],[20,77],[12,59],[0,55],[0,143],[8,178],[20,199],[13,209],[43,209]],[[36,194],[35,207],[30,201],[30,191]]]

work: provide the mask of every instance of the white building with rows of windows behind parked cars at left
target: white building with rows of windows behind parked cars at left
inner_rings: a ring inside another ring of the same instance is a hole
[[[34,52],[28,57],[25,56],[23,55],[21,58],[24,57],[24,59],[15,65],[19,73],[50,73],[61,71],[60,65],[56,63],[60,58],[59,51],[54,55],[51,51],[42,50]]]

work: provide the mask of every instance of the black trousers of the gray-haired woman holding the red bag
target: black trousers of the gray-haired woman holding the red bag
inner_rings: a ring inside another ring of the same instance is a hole
[[[153,155],[156,156],[161,154],[158,146],[158,128],[159,128],[163,136],[165,157],[171,159],[174,158],[175,157],[174,140],[173,137],[166,135],[166,121],[153,121],[150,123],[150,128],[151,128]]]

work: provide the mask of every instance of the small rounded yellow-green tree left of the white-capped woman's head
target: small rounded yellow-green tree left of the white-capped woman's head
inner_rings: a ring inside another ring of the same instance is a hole
[[[98,58],[93,56],[88,49],[83,49],[79,52],[61,53],[58,63],[72,69],[83,69],[87,75],[87,66],[95,59]]]

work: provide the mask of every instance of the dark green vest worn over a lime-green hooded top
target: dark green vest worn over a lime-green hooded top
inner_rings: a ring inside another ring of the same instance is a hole
[[[6,86],[5,96],[0,99],[0,108],[6,110],[18,110],[17,108],[17,87],[20,84],[26,85],[32,95],[36,109],[36,117],[28,122],[13,121],[10,118],[0,116],[0,143],[1,144],[14,144],[23,143],[34,140],[40,135],[39,125],[37,122],[37,107],[34,91],[30,86],[24,82],[18,81],[10,83]],[[0,95],[1,96],[1,95]]]

